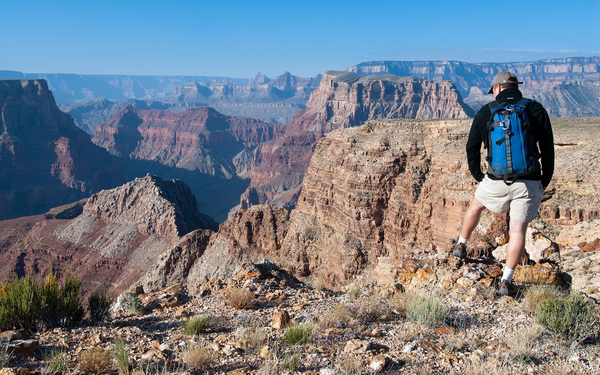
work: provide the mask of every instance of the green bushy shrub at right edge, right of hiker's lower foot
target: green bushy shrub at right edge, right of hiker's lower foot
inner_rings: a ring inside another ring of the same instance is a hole
[[[536,321],[548,331],[575,342],[600,333],[600,320],[593,305],[579,293],[548,296],[539,305]]]

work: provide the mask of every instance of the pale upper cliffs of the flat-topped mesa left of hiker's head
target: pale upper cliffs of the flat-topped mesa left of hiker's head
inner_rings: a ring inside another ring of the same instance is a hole
[[[460,119],[473,114],[450,81],[326,71],[319,88],[311,94],[307,109],[299,112],[292,123],[327,131],[371,119]]]

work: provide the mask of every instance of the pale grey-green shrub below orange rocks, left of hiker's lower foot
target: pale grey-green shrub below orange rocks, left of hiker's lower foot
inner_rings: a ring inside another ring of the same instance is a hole
[[[391,299],[391,304],[397,313],[406,317],[409,322],[419,322],[428,326],[445,324],[450,314],[450,309],[434,292],[398,293]]]

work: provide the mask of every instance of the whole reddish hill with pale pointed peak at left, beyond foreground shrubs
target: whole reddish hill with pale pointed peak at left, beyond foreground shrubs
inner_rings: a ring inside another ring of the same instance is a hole
[[[116,293],[150,271],[160,254],[183,244],[199,247],[201,234],[217,227],[199,212],[190,187],[146,176],[46,215],[0,221],[2,280],[74,267],[85,292]],[[175,268],[169,273],[176,275]]]

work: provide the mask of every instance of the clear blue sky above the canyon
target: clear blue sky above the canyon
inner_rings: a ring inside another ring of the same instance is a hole
[[[0,70],[308,77],[374,60],[598,56],[599,4],[2,1]]]

